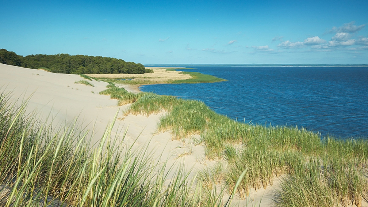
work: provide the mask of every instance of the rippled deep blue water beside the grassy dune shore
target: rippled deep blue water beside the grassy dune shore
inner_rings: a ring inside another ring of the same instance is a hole
[[[368,137],[367,67],[196,67],[185,71],[228,81],[145,85],[141,90],[201,100],[217,113],[246,123],[297,125],[336,138]]]

